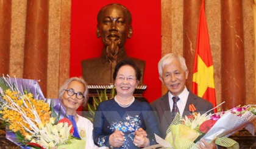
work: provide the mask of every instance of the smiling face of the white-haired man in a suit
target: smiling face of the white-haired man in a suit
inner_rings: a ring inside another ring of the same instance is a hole
[[[179,95],[183,91],[187,78],[188,70],[183,71],[178,60],[166,64],[163,68],[163,74],[160,76],[160,80],[172,95]]]

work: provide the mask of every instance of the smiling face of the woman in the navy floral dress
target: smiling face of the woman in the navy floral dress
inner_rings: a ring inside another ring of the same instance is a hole
[[[120,97],[131,97],[137,85],[138,80],[136,79],[135,69],[129,65],[124,65],[119,68],[116,75],[115,86],[116,93]]]

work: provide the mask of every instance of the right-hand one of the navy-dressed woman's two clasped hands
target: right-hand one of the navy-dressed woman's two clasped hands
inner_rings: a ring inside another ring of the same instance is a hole
[[[135,131],[135,137],[133,139],[133,144],[137,147],[144,148],[149,146],[148,134],[142,128]]]

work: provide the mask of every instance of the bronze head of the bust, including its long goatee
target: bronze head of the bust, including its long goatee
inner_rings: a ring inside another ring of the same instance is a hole
[[[98,13],[97,37],[101,37],[110,61],[117,60],[119,49],[124,49],[132,36],[132,16],[121,4],[108,4]]]

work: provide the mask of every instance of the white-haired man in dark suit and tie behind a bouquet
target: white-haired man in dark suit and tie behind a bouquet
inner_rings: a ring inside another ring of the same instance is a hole
[[[186,88],[188,68],[183,57],[172,53],[165,55],[158,63],[158,72],[168,92],[152,102],[151,107],[157,112],[159,129],[165,138],[166,130],[178,112],[181,116],[190,115],[189,105],[193,104],[196,112],[203,114],[212,109],[213,105]],[[215,144],[205,143],[205,146],[216,148]]]

